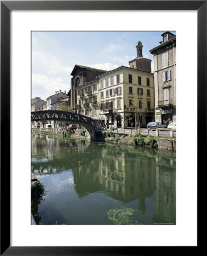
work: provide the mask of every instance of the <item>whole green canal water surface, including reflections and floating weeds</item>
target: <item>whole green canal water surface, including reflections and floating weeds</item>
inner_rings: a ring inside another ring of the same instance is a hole
[[[32,134],[39,224],[176,224],[174,151]]]

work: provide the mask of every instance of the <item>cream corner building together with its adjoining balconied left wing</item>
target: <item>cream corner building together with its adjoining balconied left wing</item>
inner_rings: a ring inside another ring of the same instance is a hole
[[[78,114],[100,119],[102,126],[135,127],[135,114],[129,109],[134,98],[144,127],[155,120],[154,74],[121,66],[78,86],[75,108]]]

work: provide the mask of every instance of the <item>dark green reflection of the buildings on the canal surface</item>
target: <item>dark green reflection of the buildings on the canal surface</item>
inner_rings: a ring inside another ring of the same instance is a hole
[[[47,160],[45,160],[45,158]],[[175,224],[175,152],[104,143],[81,143],[32,134],[32,171],[72,170],[78,197],[103,192],[122,203],[155,200],[154,223]]]

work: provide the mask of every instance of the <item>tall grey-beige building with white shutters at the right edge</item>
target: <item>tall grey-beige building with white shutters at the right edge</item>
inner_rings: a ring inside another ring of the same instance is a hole
[[[155,121],[168,125],[176,122],[176,36],[167,31],[154,55]]]

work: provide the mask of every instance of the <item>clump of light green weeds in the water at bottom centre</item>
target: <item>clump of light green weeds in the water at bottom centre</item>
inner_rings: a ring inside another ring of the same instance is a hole
[[[107,217],[110,221],[113,221],[115,225],[138,225],[138,221],[133,220],[134,213],[134,209],[123,207],[108,210]]]

